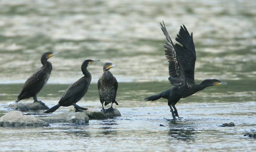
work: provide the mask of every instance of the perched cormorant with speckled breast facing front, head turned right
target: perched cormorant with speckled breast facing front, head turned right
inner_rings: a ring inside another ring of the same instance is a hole
[[[116,91],[118,87],[118,83],[116,78],[112,75],[112,73],[109,71],[110,68],[115,67],[116,65],[113,65],[110,62],[106,62],[103,65],[103,75],[98,80],[98,90],[100,94],[100,103],[102,104],[102,112],[107,113],[111,110],[113,110],[113,103],[116,102]],[[111,107],[107,110],[104,109],[103,103],[105,102],[105,106],[111,103]]]

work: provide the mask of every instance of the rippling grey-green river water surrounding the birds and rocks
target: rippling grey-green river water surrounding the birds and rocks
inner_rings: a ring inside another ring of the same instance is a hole
[[[255,8],[253,0],[0,1],[0,116],[9,112],[4,107],[16,100],[46,51],[61,53],[49,59],[53,71],[38,99],[55,105],[82,77],[82,61],[101,59],[89,67],[92,84],[78,104],[100,110],[96,82],[110,61],[117,65],[111,72],[119,82],[115,107],[122,114],[87,126],[0,128],[1,150],[253,151],[255,140],[243,135],[256,129]],[[162,20],[173,40],[181,24],[193,31],[196,83],[228,82],[180,100],[176,107],[183,118],[176,122],[167,120],[166,100],[142,101],[172,87]],[[220,127],[226,122],[236,126]]]

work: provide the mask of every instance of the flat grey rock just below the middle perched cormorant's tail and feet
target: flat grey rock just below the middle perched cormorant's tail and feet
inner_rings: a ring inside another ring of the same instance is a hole
[[[58,115],[51,115],[47,117],[40,117],[41,120],[48,123],[75,123],[75,124],[88,124],[89,117],[86,112],[64,112]]]

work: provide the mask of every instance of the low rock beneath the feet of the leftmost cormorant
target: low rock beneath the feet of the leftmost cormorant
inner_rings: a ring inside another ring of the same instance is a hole
[[[32,102],[32,103],[11,103],[7,105],[5,108],[11,108],[14,110],[19,110],[19,111],[28,111],[28,110],[47,110],[49,107],[47,105],[42,105],[39,102]]]

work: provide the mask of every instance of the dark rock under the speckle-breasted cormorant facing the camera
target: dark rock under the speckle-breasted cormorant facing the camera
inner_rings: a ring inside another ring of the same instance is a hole
[[[74,112],[75,109],[70,109],[70,112]],[[114,117],[121,117],[121,113],[117,110],[117,108],[114,108],[113,112],[108,112],[104,114],[101,111],[91,111],[91,110],[84,110],[84,112],[88,115],[89,119],[107,119],[107,118],[114,118]]]

